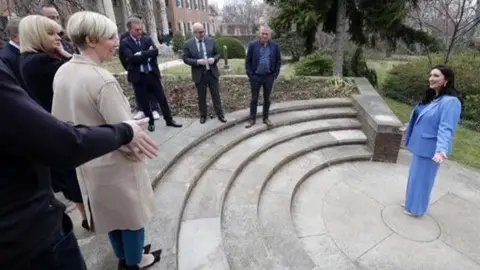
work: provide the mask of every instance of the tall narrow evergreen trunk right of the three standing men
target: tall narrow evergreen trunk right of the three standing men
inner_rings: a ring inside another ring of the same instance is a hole
[[[335,35],[335,70],[333,76],[343,77],[343,58],[346,35],[346,0],[337,0],[337,29]]]

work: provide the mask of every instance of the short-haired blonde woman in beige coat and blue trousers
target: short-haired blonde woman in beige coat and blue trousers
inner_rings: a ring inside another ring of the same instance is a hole
[[[82,11],[71,16],[67,34],[80,55],[55,75],[52,114],[76,125],[131,119],[122,88],[100,66],[115,55],[116,25],[99,13]],[[77,174],[91,202],[95,231],[108,233],[119,269],[143,269],[159,261],[161,250],[143,254],[144,227],[155,210],[145,162],[120,149],[82,165]]]

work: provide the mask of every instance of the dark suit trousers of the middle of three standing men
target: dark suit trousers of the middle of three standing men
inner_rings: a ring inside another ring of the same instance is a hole
[[[196,83],[195,86],[197,87],[200,116],[207,116],[207,87],[210,89],[215,114],[217,116],[223,116],[220,87],[218,79],[213,76],[212,72],[206,71],[205,74],[203,74],[202,80],[199,83]]]

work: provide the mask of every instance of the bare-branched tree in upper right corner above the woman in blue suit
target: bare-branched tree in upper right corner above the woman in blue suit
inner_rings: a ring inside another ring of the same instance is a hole
[[[448,63],[456,50],[471,44],[480,24],[480,4],[477,0],[424,0],[410,18],[418,28],[437,38],[444,63]]]

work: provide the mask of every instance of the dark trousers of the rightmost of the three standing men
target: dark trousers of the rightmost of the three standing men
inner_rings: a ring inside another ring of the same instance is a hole
[[[275,77],[273,75],[252,76],[250,78],[250,86],[252,91],[252,100],[250,102],[250,119],[257,118],[258,96],[260,88],[263,87],[263,119],[268,119],[270,110],[270,95],[272,94],[273,83]]]

